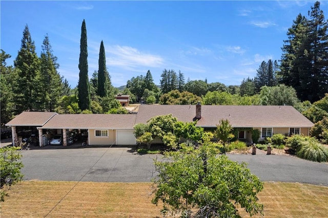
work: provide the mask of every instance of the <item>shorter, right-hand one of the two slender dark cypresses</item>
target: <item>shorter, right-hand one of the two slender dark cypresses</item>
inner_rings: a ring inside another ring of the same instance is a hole
[[[108,78],[106,78],[107,75],[108,73],[106,69],[104,42],[103,40],[101,40],[100,51],[99,51],[99,70],[98,70],[98,84],[97,84],[97,95],[100,97],[107,96],[107,86],[108,86],[107,84]]]

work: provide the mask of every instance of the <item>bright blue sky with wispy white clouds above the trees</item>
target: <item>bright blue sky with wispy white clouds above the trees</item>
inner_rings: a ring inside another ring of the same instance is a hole
[[[89,78],[104,41],[112,84],[164,69],[185,79],[239,85],[260,63],[279,60],[293,20],[314,1],[1,1],[1,49],[13,60],[27,24],[40,55],[48,34],[59,73],[78,82],[81,24],[86,20]],[[320,9],[328,17],[328,3]]]

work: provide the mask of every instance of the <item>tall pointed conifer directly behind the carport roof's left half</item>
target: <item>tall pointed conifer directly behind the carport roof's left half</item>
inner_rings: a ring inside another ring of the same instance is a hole
[[[35,110],[36,103],[40,100],[39,93],[36,92],[36,87],[40,84],[40,61],[28,25],[23,31],[22,46],[14,60],[14,67],[17,70],[17,78],[13,86],[16,114],[25,110]]]

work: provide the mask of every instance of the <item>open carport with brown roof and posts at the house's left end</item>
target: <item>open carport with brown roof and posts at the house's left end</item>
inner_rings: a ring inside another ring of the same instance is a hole
[[[24,138],[35,137],[38,139],[38,145],[43,144],[42,129],[38,129],[45,125],[57,113],[55,112],[23,112],[9,121],[6,126],[11,127],[12,144],[22,142]]]

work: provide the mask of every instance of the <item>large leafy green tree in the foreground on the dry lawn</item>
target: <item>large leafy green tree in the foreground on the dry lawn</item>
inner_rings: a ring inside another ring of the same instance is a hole
[[[166,152],[169,161],[155,161],[152,203],[163,203],[163,215],[174,211],[181,217],[241,217],[239,207],[251,216],[263,214],[256,196],[263,183],[245,163],[217,156],[217,150],[208,140],[198,148]]]

